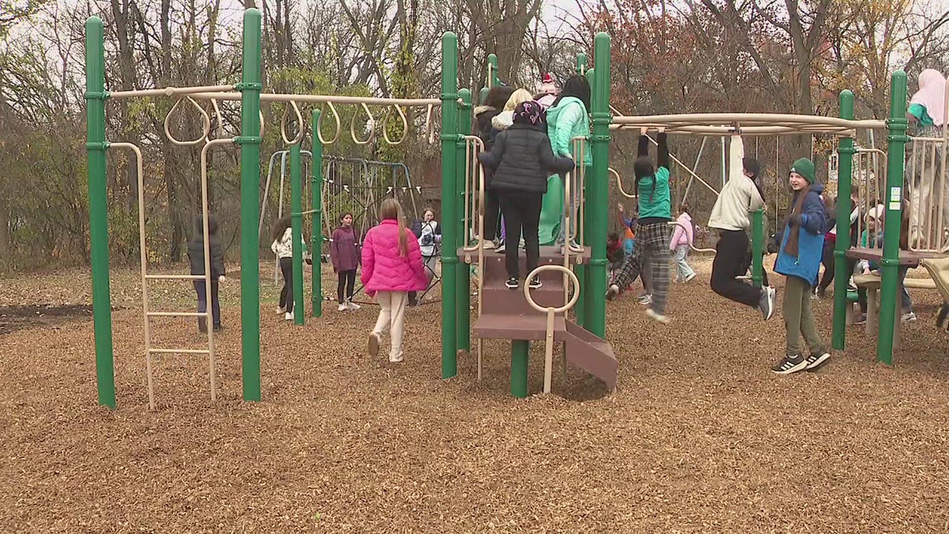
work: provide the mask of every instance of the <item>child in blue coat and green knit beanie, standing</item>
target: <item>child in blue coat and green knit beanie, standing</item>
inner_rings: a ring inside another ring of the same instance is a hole
[[[827,214],[821,192],[824,187],[814,181],[814,163],[801,158],[791,166],[788,179],[794,197],[778,248],[774,271],[787,277],[784,286],[784,326],[787,331],[787,353],[772,371],[790,374],[814,371],[827,362],[827,345],[817,334],[817,325],[810,308],[810,283],[817,277],[824,251],[824,227]],[[801,336],[808,344],[809,355],[801,352]]]

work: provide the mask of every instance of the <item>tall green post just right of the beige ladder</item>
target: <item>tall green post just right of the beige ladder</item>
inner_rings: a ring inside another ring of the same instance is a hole
[[[241,369],[244,400],[260,400],[260,11],[244,11],[240,143]]]

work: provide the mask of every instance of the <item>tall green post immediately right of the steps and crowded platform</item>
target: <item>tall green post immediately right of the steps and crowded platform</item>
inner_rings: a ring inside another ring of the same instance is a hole
[[[593,84],[593,135],[590,136],[593,145],[593,179],[588,180],[590,227],[588,236],[590,241],[589,283],[587,291],[590,294],[589,305],[585,311],[586,321],[584,328],[600,337],[605,336],[606,330],[606,224],[608,209],[603,209],[608,202],[608,176],[606,168],[609,166],[609,123],[612,116],[609,113],[609,34],[597,33],[594,48],[594,64],[596,65],[596,83]]]

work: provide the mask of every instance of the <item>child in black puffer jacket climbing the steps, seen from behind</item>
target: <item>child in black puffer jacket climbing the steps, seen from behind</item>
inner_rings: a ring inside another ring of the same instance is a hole
[[[543,108],[529,100],[514,109],[514,124],[499,133],[490,152],[482,152],[478,160],[485,170],[493,171],[491,188],[497,191],[504,216],[506,240],[516,243],[524,234],[527,249],[528,272],[537,267],[540,246],[537,227],[540,210],[547,192],[547,178],[552,173],[568,172],[573,160],[553,155],[550,140],[541,126]],[[517,265],[517,247],[505,250],[508,281],[505,285],[517,289],[520,273]],[[541,286],[539,279],[528,282],[530,288]]]

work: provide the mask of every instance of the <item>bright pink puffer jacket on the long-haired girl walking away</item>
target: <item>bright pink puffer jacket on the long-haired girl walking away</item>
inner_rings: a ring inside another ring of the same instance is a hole
[[[385,219],[369,230],[363,239],[363,275],[361,280],[368,296],[378,291],[422,291],[425,271],[421,262],[419,241],[408,228],[403,228],[409,255],[399,255],[399,224]]]

